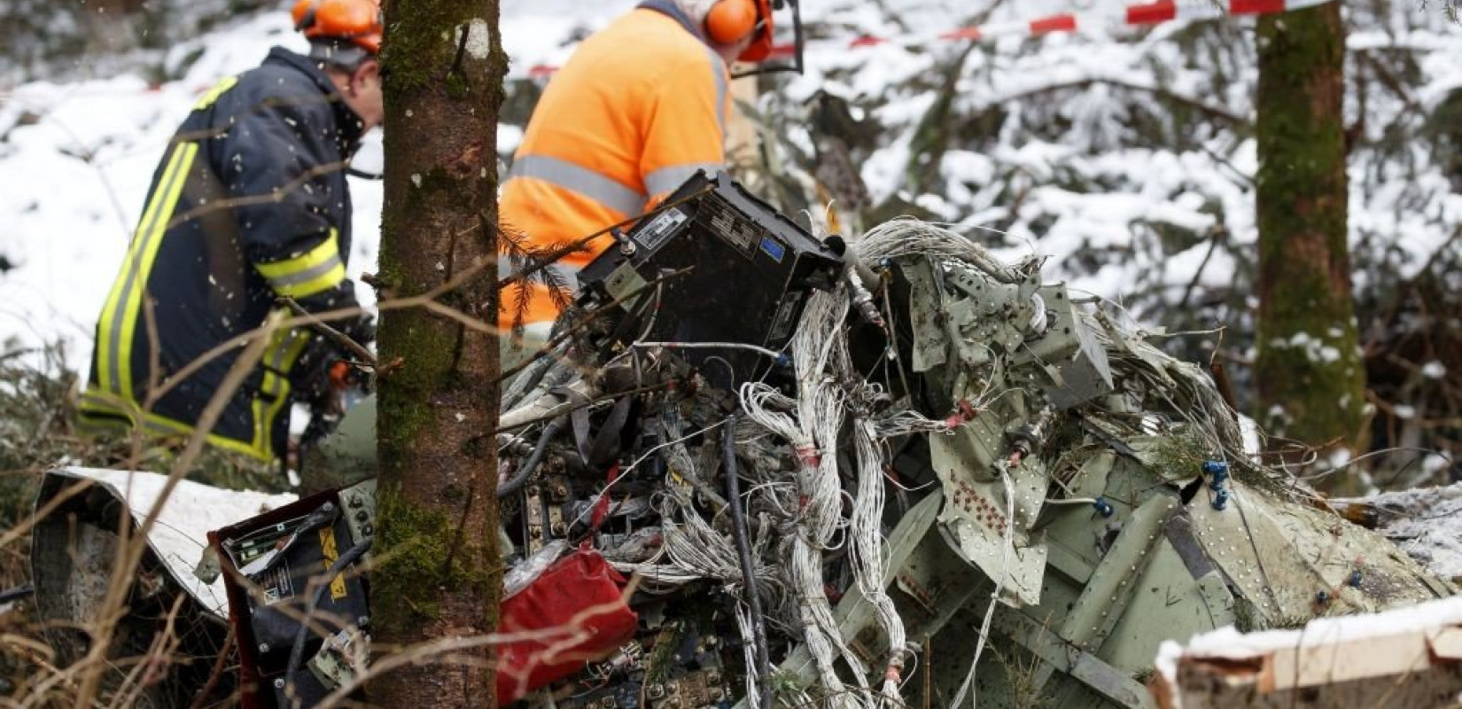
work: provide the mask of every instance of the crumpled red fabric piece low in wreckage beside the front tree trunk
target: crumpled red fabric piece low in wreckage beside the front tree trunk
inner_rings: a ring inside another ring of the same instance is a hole
[[[560,558],[500,607],[499,632],[544,630],[544,637],[497,649],[497,702],[577,672],[635,637],[639,615],[624,604],[624,576],[599,553],[579,550]],[[547,633],[550,630],[567,633]]]

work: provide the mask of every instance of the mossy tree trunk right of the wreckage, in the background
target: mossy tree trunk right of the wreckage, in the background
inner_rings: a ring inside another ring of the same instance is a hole
[[[1259,420],[1314,446],[1363,443],[1347,246],[1341,3],[1259,20]],[[1273,443],[1273,441],[1272,441]]]

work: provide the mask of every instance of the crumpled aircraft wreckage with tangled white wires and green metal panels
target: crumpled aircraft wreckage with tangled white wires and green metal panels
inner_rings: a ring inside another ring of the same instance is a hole
[[[917,221],[817,240],[725,175],[667,203],[503,396],[504,630],[592,629],[501,648],[504,703],[1154,706],[1162,640],[1455,592],[1257,465],[1205,370],[1038,259]],[[75,477],[107,484],[38,526],[37,586],[83,621],[77,564],[127,477],[60,471],[42,497]],[[174,500],[159,528],[193,547],[154,539],[135,594],[190,595],[205,648],[234,624],[244,706],[348,691],[373,490],[225,503],[231,523]]]

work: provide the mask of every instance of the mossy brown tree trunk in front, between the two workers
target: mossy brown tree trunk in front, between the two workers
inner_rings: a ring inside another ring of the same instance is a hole
[[[412,652],[497,624],[497,113],[507,58],[496,0],[386,4],[386,203],[382,301],[439,289],[425,308],[382,310],[380,529],[371,573],[377,646]],[[463,664],[466,655],[477,662]],[[490,652],[453,652],[370,687],[379,706],[494,706]],[[383,659],[377,656],[377,662]]]

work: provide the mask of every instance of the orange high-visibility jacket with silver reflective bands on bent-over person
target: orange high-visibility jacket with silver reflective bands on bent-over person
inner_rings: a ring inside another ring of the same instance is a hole
[[[645,213],[697,170],[719,170],[728,82],[725,61],[673,1],[643,3],[595,32],[534,108],[503,184],[503,225],[534,246],[572,243]],[[572,276],[613,243],[596,238],[558,273]],[[506,259],[500,270],[510,272]],[[547,289],[532,288],[525,320],[542,327],[558,313]],[[516,300],[516,289],[503,292],[504,327]]]

